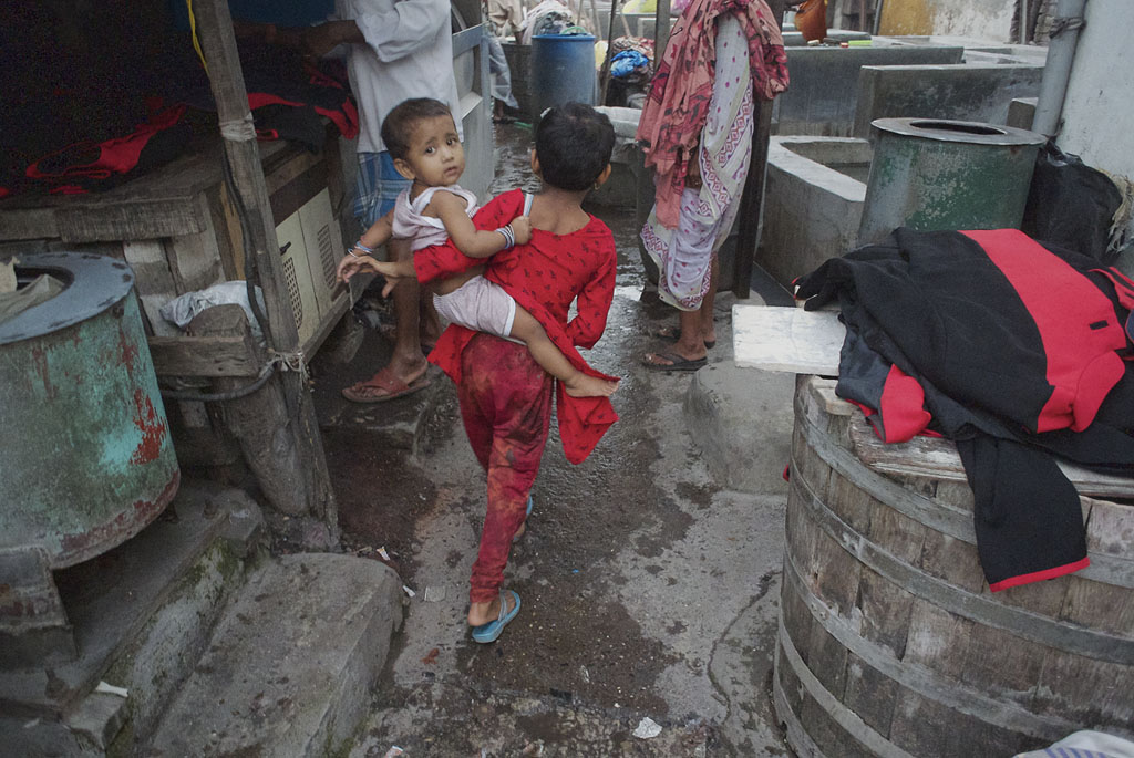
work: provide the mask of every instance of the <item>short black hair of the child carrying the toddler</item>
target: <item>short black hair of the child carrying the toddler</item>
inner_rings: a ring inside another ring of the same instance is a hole
[[[583,103],[556,105],[535,127],[540,172],[558,189],[591,189],[610,163],[613,148],[610,119]]]

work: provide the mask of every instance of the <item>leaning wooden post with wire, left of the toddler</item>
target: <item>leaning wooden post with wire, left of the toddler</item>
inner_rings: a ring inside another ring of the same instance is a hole
[[[252,113],[248,110],[248,93],[244,85],[228,2],[196,0],[193,3],[193,14],[201,50],[209,66],[210,86],[217,101],[221,136],[225,138],[225,154],[232,169],[236,193],[247,211],[242,222],[248,225],[253,249],[245,250],[245,255],[255,256],[260,272],[257,283],[263,290],[268,307],[269,343],[278,354],[291,356],[301,350],[299,333],[296,330],[295,314],[278,254],[276,224],[268,199],[268,187],[252,125]],[[299,478],[297,486],[302,487],[297,496],[306,503],[312,516],[327,522],[332,539],[337,539],[338,513],[335,493],[331,489],[323,441],[319,434],[319,424],[304,374],[294,371],[281,372],[272,378],[272,382],[278,382],[282,390],[285,408],[281,409],[281,414],[286,421],[282,432],[288,437],[285,446],[294,445],[298,460],[302,461],[302,467],[296,472]],[[265,449],[272,449],[278,441],[262,440],[261,443]],[[282,467],[288,463],[280,460],[278,465]]]

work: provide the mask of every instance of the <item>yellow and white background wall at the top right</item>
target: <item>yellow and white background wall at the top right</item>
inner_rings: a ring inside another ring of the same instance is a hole
[[[1015,0],[883,0],[879,34],[940,34],[1005,42]]]

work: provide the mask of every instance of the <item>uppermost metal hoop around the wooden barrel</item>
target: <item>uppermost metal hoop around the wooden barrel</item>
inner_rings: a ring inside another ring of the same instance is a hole
[[[973,528],[971,513],[934,503],[929,497],[909,492],[896,482],[871,470],[854,453],[832,442],[829,435],[806,420],[806,416],[798,408],[796,428],[802,431],[803,438],[828,466],[871,497],[946,536],[970,545],[976,544],[976,531]],[[1091,565],[1075,572],[1075,576],[1134,589],[1134,561],[1102,553],[1090,553],[1090,557]]]

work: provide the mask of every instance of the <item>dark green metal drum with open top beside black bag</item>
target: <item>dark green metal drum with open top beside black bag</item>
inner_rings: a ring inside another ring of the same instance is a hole
[[[973,121],[878,119],[858,242],[897,227],[1018,229],[1043,135]]]

